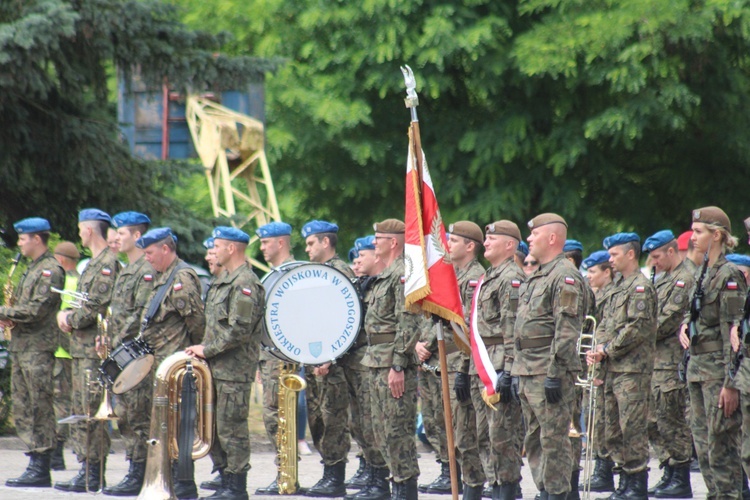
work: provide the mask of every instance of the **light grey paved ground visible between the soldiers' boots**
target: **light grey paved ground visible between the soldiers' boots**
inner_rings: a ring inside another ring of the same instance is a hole
[[[110,455],[107,465],[107,481],[109,484],[118,483],[127,472],[128,464],[125,461],[125,456],[122,451],[122,444],[120,441],[115,440],[113,443],[115,454]],[[257,443],[255,449],[258,450],[253,453],[252,466],[250,473],[248,474],[248,491],[252,494],[256,488],[261,486],[267,486],[273,481],[276,469],[273,464],[273,453],[269,451],[265,443]],[[67,471],[53,472],[53,481],[67,481],[77,473],[77,467],[73,469],[75,464],[75,458],[70,450],[65,451],[65,462],[68,465]],[[26,468],[28,459],[23,454],[23,445],[17,438],[0,438],[0,499],[2,500],[40,500],[47,498],[87,498],[85,494],[66,493],[51,488],[8,488],[5,486],[5,480],[10,477],[16,477],[20,475]],[[358,464],[357,459],[352,453],[349,457],[349,465],[347,468],[347,477],[351,476]],[[439,467],[435,463],[434,455],[429,452],[421,450],[421,458],[419,459],[419,466],[422,470],[422,476],[420,482],[431,482],[439,473]],[[319,457],[317,454],[311,456],[303,456],[299,463],[299,477],[300,484],[302,486],[312,486],[322,475],[323,467],[320,465]],[[536,488],[531,481],[531,473],[528,467],[524,465],[523,468],[523,482],[522,488],[525,499],[533,499],[536,494]],[[195,477],[198,482],[204,481],[211,478],[211,460],[204,458],[199,460],[195,464]],[[651,463],[651,473],[649,482],[650,484],[656,483],[661,477],[661,471],[658,470],[658,466],[655,462]],[[700,474],[692,475],[693,491],[695,493],[694,498],[705,498],[706,489],[703,484],[703,480]],[[210,491],[201,490],[201,497],[207,497],[211,494]],[[104,496],[104,495],[100,495]],[[447,500],[450,498],[445,495],[421,495],[424,499],[442,499]],[[606,498],[605,494],[596,494],[592,498]],[[115,498],[115,497],[107,497]],[[132,498],[132,497],[131,497]],[[272,497],[269,497],[272,498]],[[273,497],[278,498],[278,497]]]

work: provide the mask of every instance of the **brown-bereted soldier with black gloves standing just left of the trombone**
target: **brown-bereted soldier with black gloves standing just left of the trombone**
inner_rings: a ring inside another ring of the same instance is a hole
[[[563,255],[565,220],[547,213],[528,225],[529,258],[540,267],[521,285],[511,389],[521,399],[534,483],[547,498],[559,500],[570,491],[573,471],[568,427],[581,369],[576,343],[585,289],[581,274]]]

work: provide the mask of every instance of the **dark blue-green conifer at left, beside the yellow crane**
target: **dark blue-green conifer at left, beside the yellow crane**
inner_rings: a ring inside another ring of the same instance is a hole
[[[164,196],[185,164],[134,158],[109,88],[116,70],[184,92],[236,88],[274,68],[218,53],[229,39],[186,28],[155,0],[0,3],[0,224],[39,215],[73,238],[80,208],[137,209],[183,243],[201,241],[208,221]]]

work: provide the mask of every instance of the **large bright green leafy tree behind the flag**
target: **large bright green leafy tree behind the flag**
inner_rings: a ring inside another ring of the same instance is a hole
[[[697,206],[747,215],[744,2],[174,2],[188,24],[233,30],[237,54],[286,58],[268,144],[296,223],[362,233],[401,214],[403,63],[447,220],[557,211],[598,247],[687,229]]]

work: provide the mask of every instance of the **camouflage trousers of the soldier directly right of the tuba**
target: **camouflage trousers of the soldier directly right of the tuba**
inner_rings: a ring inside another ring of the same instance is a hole
[[[250,431],[247,420],[252,387],[252,382],[214,379],[216,428],[211,446],[214,470],[241,474],[250,469]]]

